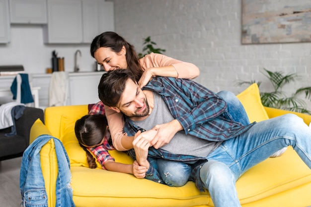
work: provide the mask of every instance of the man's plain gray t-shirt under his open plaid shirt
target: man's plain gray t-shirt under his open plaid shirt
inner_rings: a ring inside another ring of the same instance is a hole
[[[145,120],[134,121],[137,126],[145,130],[150,130],[154,128],[156,124],[167,123],[174,119],[161,96],[156,93],[153,94],[155,107],[152,113]],[[176,155],[207,157],[207,155],[219,147],[221,143],[222,142],[203,140],[189,134],[186,135],[184,131],[179,131],[170,142],[162,146],[161,149]]]

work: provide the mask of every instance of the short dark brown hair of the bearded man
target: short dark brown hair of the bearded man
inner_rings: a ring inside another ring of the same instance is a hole
[[[128,79],[135,81],[133,73],[128,69],[110,70],[104,73],[98,84],[98,97],[103,104],[116,107]]]

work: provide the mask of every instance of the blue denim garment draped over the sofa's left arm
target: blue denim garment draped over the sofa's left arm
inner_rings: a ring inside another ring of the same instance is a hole
[[[48,198],[41,170],[41,148],[53,139],[58,163],[56,180],[56,207],[75,207],[73,190],[70,186],[71,172],[67,152],[62,142],[50,135],[39,136],[25,150],[19,177],[20,195],[23,207],[48,207]]]

